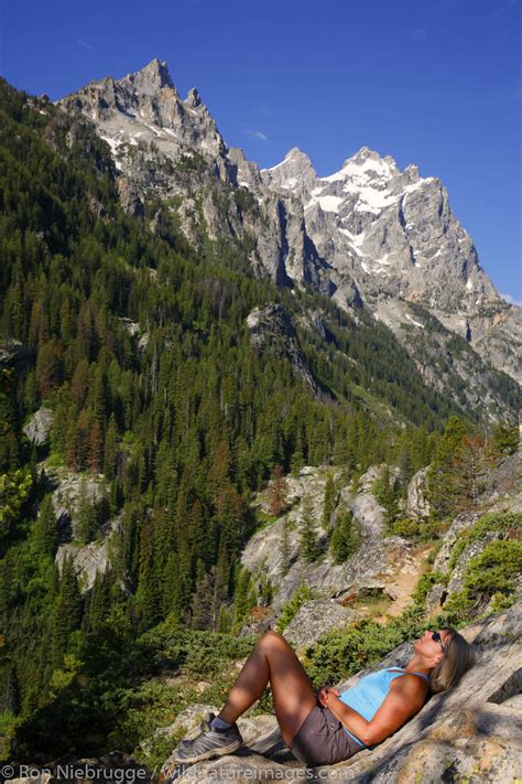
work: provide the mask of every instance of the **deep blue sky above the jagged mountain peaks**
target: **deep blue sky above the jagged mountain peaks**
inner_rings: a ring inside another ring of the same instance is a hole
[[[261,167],[367,146],[438,176],[522,300],[522,0],[0,0],[0,73],[57,99],[157,56]]]

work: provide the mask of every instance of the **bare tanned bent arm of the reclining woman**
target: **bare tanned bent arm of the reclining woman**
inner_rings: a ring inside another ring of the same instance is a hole
[[[418,680],[415,676],[392,680],[390,691],[371,721],[367,721],[331,692],[328,694],[327,707],[365,745],[380,743],[422,708],[426,687]]]

